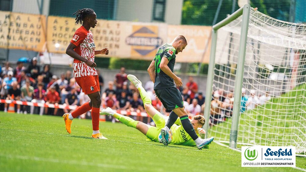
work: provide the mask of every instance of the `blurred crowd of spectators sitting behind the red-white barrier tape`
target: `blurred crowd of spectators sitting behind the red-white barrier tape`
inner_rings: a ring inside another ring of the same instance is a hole
[[[70,70],[62,73],[58,78],[50,72],[50,65],[44,65],[43,69],[37,65],[37,59],[33,58],[28,67],[24,67],[22,62],[17,62],[17,66],[13,69],[7,62],[1,69],[0,78],[0,98],[7,100],[21,100],[32,103],[52,103],[78,106],[90,99],[85,95]],[[103,78],[99,75],[100,86],[103,87]],[[168,115],[165,108],[159,99],[155,97],[154,83],[150,80],[144,84],[144,89],[148,92],[152,99],[152,105],[162,114]],[[190,76],[185,86],[178,88],[181,91],[185,110],[189,116],[204,114],[205,96],[202,92],[198,92],[198,84],[194,78]],[[102,91],[102,89],[101,89]],[[255,90],[250,91],[250,96],[245,95],[246,90],[242,89],[241,97],[241,112],[248,109],[254,109],[258,105],[263,105],[271,99],[269,93],[256,96]],[[111,107],[115,110],[125,110],[127,112],[145,112],[143,102],[141,101],[138,89],[128,82],[125,68],[121,67],[120,72],[116,74],[114,81],[107,83],[107,88],[102,95],[103,108]],[[218,89],[213,92],[210,107],[210,123],[216,124],[226,120],[232,116],[233,111],[233,91],[225,92],[223,89]],[[69,113],[69,109],[57,109],[48,107],[34,107],[26,105],[14,105],[17,113],[36,113],[62,115]],[[8,111],[9,104],[2,103],[1,110]],[[86,115],[87,114],[87,115]],[[85,113],[82,118],[90,118],[90,113]],[[138,121],[151,123],[149,117],[136,116]],[[107,119],[115,121],[115,118]]]

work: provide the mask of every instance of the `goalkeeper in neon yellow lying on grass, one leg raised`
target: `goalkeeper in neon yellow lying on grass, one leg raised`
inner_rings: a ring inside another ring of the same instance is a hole
[[[167,121],[159,111],[157,111],[151,104],[151,98],[148,93],[144,90],[141,85],[141,82],[133,75],[128,75],[128,79],[137,87],[140,92],[140,96],[142,101],[144,102],[144,108],[147,111],[147,114],[153,119],[156,124],[156,127],[151,125],[144,124],[140,121],[135,121],[132,118],[127,116],[123,116],[121,114],[116,113],[111,108],[106,108],[100,112],[101,115],[111,115],[117,118],[123,124],[138,129],[141,133],[147,136],[147,140],[161,142],[160,130],[165,127],[165,122]],[[196,115],[192,118],[191,123],[193,127],[196,129],[196,132],[200,135],[201,138],[205,138],[205,130],[202,129],[202,126],[205,123],[205,118],[202,115]],[[177,118],[177,121],[171,127],[172,135],[169,136],[170,144],[179,144],[186,146],[196,146],[196,143],[192,140],[192,138],[185,132],[183,126],[181,125],[180,118]],[[210,140],[213,137],[209,138]],[[204,148],[208,148],[208,145]]]

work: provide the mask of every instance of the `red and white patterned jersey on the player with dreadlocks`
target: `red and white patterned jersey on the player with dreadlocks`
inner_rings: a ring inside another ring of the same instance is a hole
[[[76,48],[74,51],[80,56],[94,62],[95,61],[95,42],[91,31],[83,26],[78,28],[70,41]],[[74,77],[95,76],[98,75],[95,68],[89,67],[86,63],[74,59],[73,61]]]

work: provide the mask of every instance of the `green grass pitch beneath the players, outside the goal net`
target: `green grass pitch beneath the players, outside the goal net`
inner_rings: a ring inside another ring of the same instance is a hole
[[[209,149],[145,141],[136,129],[100,122],[109,140],[92,139],[91,120],[0,112],[1,171],[248,171],[291,172],[290,167],[241,167],[241,153],[214,142]],[[306,169],[306,158],[297,157]]]

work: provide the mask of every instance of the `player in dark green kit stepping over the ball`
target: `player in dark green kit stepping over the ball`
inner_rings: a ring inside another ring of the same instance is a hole
[[[177,36],[172,43],[165,43],[157,51],[155,58],[151,62],[148,73],[154,82],[154,91],[156,96],[162,102],[163,106],[171,111],[165,128],[161,129],[162,143],[168,145],[169,132],[171,126],[180,117],[181,125],[185,131],[195,141],[197,148],[201,149],[210,144],[214,139],[201,139],[188,120],[188,114],[183,106],[183,99],[175,84],[180,87],[183,85],[182,79],[173,73],[176,54],[182,52],[187,46],[185,36]]]

